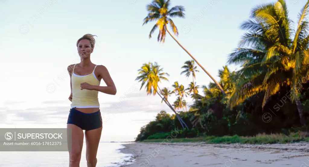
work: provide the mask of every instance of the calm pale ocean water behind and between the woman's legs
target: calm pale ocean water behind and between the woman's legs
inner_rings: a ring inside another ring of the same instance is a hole
[[[119,149],[124,148],[125,142],[100,142],[96,167],[116,167],[124,161],[128,161],[131,154],[121,153]],[[69,167],[68,152],[0,152],[0,167]],[[83,144],[80,167],[87,167],[86,143]]]

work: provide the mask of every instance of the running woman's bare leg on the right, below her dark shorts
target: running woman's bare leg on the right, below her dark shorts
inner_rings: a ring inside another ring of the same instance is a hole
[[[97,164],[97,152],[101,138],[102,127],[85,131],[87,167],[95,167]]]

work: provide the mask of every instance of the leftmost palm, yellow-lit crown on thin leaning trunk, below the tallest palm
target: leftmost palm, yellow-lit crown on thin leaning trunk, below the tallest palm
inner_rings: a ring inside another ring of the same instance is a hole
[[[156,94],[158,94],[161,97],[161,99],[167,104],[167,106],[170,107],[171,110],[176,114],[178,120],[180,121],[182,128],[184,128],[184,126],[186,128],[188,128],[187,124],[185,124],[185,122],[178,115],[178,113],[174,110],[174,108],[171,106],[171,104],[169,104],[168,101],[165,100],[161,96],[162,91],[159,88],[158,83],[159,82],[161,83],[161,80],[168,81],[168,79],[165,77],[165,75],[169,76],[169,74],[163,72],[163,68],[160,68],[160,66],[156,62],[155,63],[150,63],[150,62],[144,63],[138,71],[139,71],[138,72],[139,75],[138,75],[138,77],[136,77],[135,80],[138,80],[138,82],[142,83],[140,90],[145,85],[147,95],[153,94],[153,96],[155,96]],[[161,92],[161,94],[157,91],[158,89]]]

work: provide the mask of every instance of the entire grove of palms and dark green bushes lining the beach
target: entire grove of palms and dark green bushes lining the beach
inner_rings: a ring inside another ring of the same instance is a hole
[[[301,3],[303,1],[299,1]],[[147,95],[160,96],[172,115],[158,111],[156,119],[143,126],[136,141],[165,138],[179,129],[177,137],[201,135],[253,136],[259,133],[307,131],[309,124],[309,0],[300,9],[294,24],[284,0],[261,4],[251,10],[248,21],[241,24],[246,30],[240,45],[229,54],[228,64],[240,65],[238,71],[224,66],[216,81],[177,41],[176,23],[172,18],[184,18],[183,6],[170,6],[170,0],[153,0],[147,5],[144,24],[154,22],[149,38],[159,30],[158,42],[173,39],[188,56],[179,67],[183,77],[191,79],[182,85],[171,82],[172,89],[160,87],[168,80],[156,62],[142,64],[135,80]],[[170,38],[171,37],[171,38]],[[213,82],[198,85],[195,74],[205,72]],[[203,90],[199,92],[198,89]],[[170,99],[171,94],[176,99]],[[185,96],[194,101],[188,106]]]

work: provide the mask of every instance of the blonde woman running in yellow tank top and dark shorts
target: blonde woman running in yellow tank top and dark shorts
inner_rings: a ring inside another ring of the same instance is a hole
[[[116,94],[115,84],[103,65],[95,65],[90,55],[95,46],[95,35],[86,34],[77,40],[80,63],[68,66],[71,78],[71,109],[67,128],[72,129],[72,150],[69,150],[69,167],[79,167],[85,130],[87,167],[97,164],[97,150],[102,132],[102,117],[98,92]],[[107,86],[100,86],[101,79]]]

